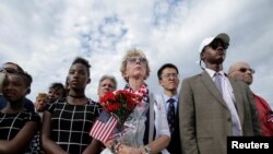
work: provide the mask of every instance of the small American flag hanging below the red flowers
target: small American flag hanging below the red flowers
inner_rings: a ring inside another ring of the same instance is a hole
[[[103,111],[90,131],[90,135],[105,143],[118,121],[110,114]]]

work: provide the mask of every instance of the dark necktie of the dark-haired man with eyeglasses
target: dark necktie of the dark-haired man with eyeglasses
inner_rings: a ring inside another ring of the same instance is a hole
[[[167,112],[167,119],[169,125],[169,131],[173,133],[175,131],[175,116],[176,116],[176,108],[175,108],[175,99],[169,98],[168,99],[168,112]]]

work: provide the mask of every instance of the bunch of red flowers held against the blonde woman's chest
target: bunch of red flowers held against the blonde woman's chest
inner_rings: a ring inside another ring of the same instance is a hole
[[[106,93],[99,98],[99,104],[107,112],[115,115],[120,120],[120,123],[123,125],[140,100],[141,97],[139,95],[126,90],[119,90]]]

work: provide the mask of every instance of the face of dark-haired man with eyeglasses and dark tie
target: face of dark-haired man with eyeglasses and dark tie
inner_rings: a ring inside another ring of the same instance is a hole
[[[166,68],[162,71],[162,79],[159,84],[163,86],[164,91],[175,92],[177,91],[179,84],[179,75],[174,68]]]

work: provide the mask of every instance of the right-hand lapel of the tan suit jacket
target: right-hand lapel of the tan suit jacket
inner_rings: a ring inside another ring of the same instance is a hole
[[[240,123],[242,125],[242,121],[244,121],[244,114],[242,114],[244,112],[244,98],[242,98],[242,95],[240,95],[241,94],[240,87],[230,78],[229,78],[229,82],[230,82],[230,85],[232,85],[233,91],[234,91],[234,97],[235,97],[234,104],[235,104],[235,107],[237,109],[237,114],[239,116]]]

